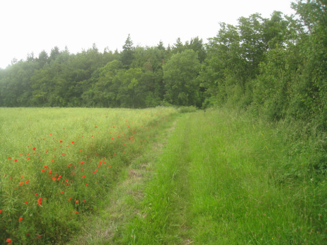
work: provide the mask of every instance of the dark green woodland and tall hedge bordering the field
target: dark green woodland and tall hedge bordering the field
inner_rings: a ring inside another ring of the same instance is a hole
[[[292,4],[296,16],[255,13],[217,36],[165,47],[88,50],[13,60],[0,69],[2,107],[130,107],[230,104],[271,120],[315,120],[327,128],[327,14],[324,0]]]

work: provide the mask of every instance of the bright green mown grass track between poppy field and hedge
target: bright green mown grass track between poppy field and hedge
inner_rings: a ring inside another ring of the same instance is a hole
[[[126,171],[99,226],[110,235],[85,243],[325,244],[326,184],[283,172],[310,158],[290,154],[287,132],[208,110],[183,114],[166,133],[162,154]]]

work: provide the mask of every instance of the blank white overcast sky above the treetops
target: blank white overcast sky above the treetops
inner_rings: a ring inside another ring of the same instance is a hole
[[[167,47],[178,37],[207,41],[217,35],[219,22],[237,24],[241,16],[273,10],[294,14],[295,0],[1,0],[0,67],[13,58],[38,57],[58,46],[78,53],[96,43],[100,52],[120,51],[128,36],[134,46]]]

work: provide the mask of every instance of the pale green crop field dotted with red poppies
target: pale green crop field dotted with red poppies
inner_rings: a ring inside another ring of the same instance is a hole
[[[0,243],[66,241],[174,114],[0,108]]]

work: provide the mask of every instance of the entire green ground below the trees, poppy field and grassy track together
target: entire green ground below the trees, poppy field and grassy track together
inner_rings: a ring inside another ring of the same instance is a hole
[[[301,122],[169,107],[0,122],[4,244],[327,242],[326,135]]]

